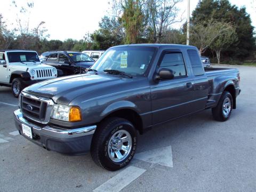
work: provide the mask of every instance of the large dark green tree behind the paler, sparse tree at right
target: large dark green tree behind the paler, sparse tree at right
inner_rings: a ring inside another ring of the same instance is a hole
[[[228,0],[202,0],[192,13],[191,23],[199,25],[199,23],[211,19],[236,26],[235,30],[239,43],[235,42],[229,46],[226,51],[228,55],[245,58],[255,49],[253,26],[245,7],[238,9],[237,6],[231,5]]]

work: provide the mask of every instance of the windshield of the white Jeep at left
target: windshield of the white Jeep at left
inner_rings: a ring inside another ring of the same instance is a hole
[[[39,62],[36,52],[7,52],[9,62]]]

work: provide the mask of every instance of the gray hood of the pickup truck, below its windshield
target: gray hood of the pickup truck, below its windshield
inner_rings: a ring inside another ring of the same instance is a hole
[[[108,87],[111,87],[111,90],[117,90],[118,87],[124,87],[121,84],[129,84],[131,81],[133,81],[131,78],[114,75],[72,75],[39,82],[26,87],[23,91],[51,98],[55,103],[68,105],[73,99],[82,95],[84,99],[90,99],[95,93],[99,95],[105,94],[104,92],[109,93]]]

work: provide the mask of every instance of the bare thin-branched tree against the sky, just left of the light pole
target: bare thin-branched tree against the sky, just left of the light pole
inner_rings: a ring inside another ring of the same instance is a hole
[[[179,9],[177,4],[183,0],[147,0],[149,10],[149,24],[153,28],[154,42],[161,43],[161,38],[167,30],[176,22],[183,19],[178,18]]]

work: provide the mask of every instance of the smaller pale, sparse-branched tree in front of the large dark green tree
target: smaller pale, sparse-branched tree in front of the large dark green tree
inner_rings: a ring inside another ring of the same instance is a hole
[[[231,25],[219,21],[204,21],[191,26],[190,41],[202,54],[219,37],[228,33]]]

